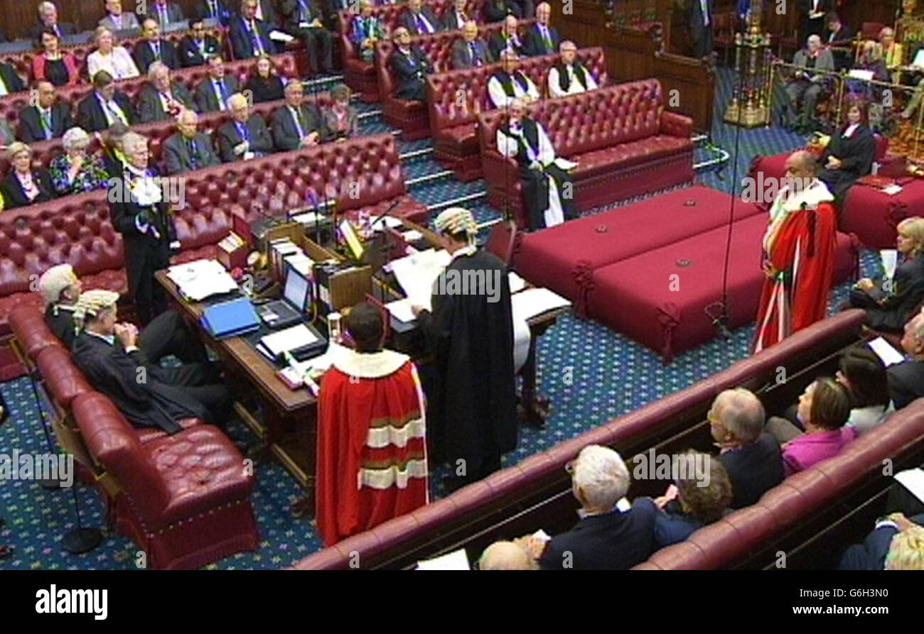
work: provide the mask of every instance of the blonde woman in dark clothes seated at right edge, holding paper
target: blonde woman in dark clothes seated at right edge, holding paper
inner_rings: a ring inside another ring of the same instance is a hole
[[[869,328],[901,332],[924,300],[924,218],[898,223],[895,247],[901,258],[892,279],[863,278],[850,291],[850,305],[865,308]]]

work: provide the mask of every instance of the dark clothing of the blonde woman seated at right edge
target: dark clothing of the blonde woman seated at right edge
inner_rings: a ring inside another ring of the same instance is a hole
[[[893,293],[883,292],[881,280],[874,283],[876,288],[870,293],[850,289],[850,305],[866,309],[869,328],[901,332],[924,299],[924,255],[906,259],[895,268]]]

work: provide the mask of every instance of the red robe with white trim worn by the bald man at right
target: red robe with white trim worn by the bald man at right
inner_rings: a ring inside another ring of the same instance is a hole
[[[764,258],[779,271],[765,278],[757,312],[754,352],[824,318],[834,271],[837,220],[829,202],[797,209],[771,224]]]

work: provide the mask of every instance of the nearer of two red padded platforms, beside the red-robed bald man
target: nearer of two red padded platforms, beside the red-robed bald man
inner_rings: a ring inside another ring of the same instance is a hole
[[[729,328],[747,324],[757,312],[764,280],[760,242],[766,229],[762,214],[733,225]],[[661,353],[665,361],[710,341],[716,332],[704,309],[722,299],[727,236],[727,227],[718,227],[595,270],[589,317]],[[843,233],[838,234],[836,253],[834,279],[843,281],[853,273],[855,262],[850,239]]]

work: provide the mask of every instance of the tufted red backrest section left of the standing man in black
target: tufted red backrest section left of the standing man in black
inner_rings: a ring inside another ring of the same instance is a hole
[[[25,293],[55,264],[78,275],[122,267],[122,237],[109,221],[105,191],[8,209],[0,214],[0,296]]]

